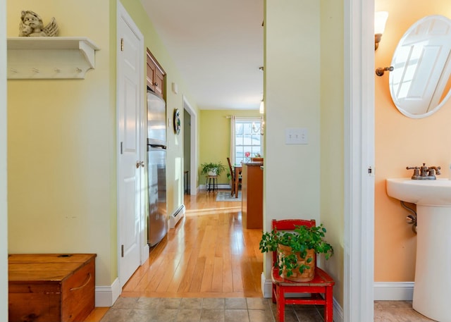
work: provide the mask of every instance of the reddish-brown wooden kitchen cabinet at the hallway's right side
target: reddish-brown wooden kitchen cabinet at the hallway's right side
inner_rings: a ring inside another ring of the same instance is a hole
[[[242,225],[245,228],[263,228],[263,170],[261,162],[242,166]]]

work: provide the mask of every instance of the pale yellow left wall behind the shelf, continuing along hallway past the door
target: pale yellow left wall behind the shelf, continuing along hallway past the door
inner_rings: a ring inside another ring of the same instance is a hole
[[[144,42],[166,70],[168,116],[183,111],[183,80],[144,14],[124,0]],[[96,284],[117,277],[116,0],[9,0],[7,35],[17,37],[20,11],[61,36],[88,37],[101,50],[85,80],[8,80],[8,252],[92,252]],[[143,53],[143,58],[145,53]],[[190,101],[197,110],[195,101]],[[171,124],[171,122],[169,122]],[[183,144],[168,129],[168,213],[183,202]]]

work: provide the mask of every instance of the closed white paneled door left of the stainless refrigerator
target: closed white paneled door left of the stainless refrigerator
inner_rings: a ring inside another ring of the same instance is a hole
[[[121,287],[140,266],[144,225],[144,42],[118,4],[118,275]]]

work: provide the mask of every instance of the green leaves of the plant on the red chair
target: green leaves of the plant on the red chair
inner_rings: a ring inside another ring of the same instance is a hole
[[[307,249],[314,249],[316,254],[325,254],[326,259],[333,255],[333,247],[324,240],[325,236],[326,228],[323,227],[322,223],[319,226],[310,228],[304,225],[296,226],[295,230],[283,232],[272,230],[269,233],[263,233],[259,249],[261,249],[262,253],[265,253],[276,252],[279,244],[291,247],[292,254],[285,256],[283,253],[279,253],[279,260],[274,263],[274,267],[279,269],[280,275],[285,268],[287,276],[291,276],[296,268],[299,268],[300,273],[303,273],[305,269],[309,269],[309,264],[313,261],[312,258],[308,258],[304,264],[299,264],[296,253],[299,253],[301,258],[305,258]]]

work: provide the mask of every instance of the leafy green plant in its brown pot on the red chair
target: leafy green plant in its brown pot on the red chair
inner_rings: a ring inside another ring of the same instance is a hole
[[[316,254],[325,254],[326,259],[333,255],[333,247],[324,240],[326,228],[323,224],[307,227],[296,226],[295,230],[263,233],[259,249],[262,253],[277,252],[274,267],[279,275],[288,280],[307,282],[314,278]]]

